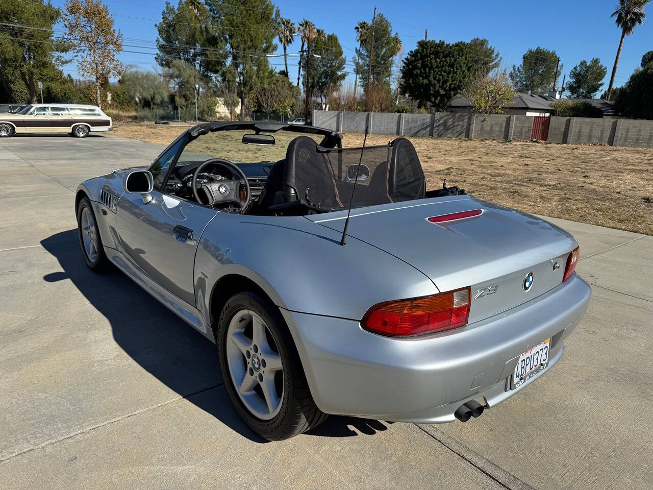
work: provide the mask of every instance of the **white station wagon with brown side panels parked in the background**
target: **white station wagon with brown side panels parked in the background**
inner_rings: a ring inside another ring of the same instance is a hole
[[[14,133],[69,133],[84,138],[89,132],[111,131],[111,118],[95,105],[31,104],[18,114],[0,114],[0,137]]]

